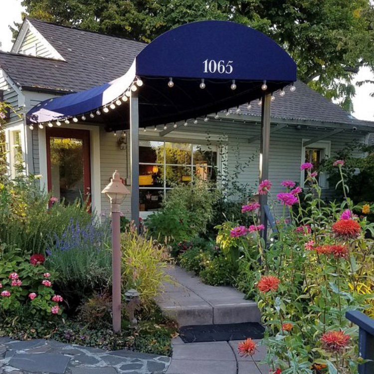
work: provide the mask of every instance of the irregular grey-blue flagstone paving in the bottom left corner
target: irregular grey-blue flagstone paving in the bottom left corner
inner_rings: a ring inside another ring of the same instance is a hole
[[[127,350],[108,352],[53,340],[0,338],[0,374],[161,374],[170,361]]]

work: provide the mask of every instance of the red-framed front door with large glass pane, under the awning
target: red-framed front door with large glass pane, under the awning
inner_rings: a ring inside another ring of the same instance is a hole
[[[46,128],[48,191],[66,204],[91,204],[90,133]]]

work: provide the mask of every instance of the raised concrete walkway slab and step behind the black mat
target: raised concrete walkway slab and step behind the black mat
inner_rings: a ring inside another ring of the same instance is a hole
[[[173,283],[165,284],[156,302],[179,326],[260,322],[257,304],[244,300],[238,290],[206,285],[178,266],[170,266],[167,272]]]

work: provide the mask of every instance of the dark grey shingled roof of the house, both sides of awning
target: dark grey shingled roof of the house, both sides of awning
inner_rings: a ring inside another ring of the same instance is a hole
[[[146,46],[135,40],[84,31],[77,28],[28,18],[28,21],[60,53],[65,61],[0,52],[0,67],[23,89],[78,92],[107,83],[123,75],[137,54]],[[301,120],[374,126],[360,121],[330,100],[298,81],[296,92],[275,94],[271,116]],[[240,107],[241,113],[259,117],[261,108]]]

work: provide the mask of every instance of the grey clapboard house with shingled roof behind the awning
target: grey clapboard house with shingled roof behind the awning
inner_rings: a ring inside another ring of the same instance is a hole
[[[6,128],[10,175],[14,177],[15,162],[22,157],[27,173],[41,175],[41,188],[67,201],[89,195],[96,211],[108,212],[108,200],[100,192],[114,170],[125,184],[131,181],[126,132],[80,119],[31,130],[25,126],[24,114],[46,99],[118,78],[145,46],[25,19],[11,52],[0,52],[0,92],[21,115],[10,114]],[[298,81],[294,87],[295,92],[275,92],[271,103],[269,179],[273,195],[283,190],[284,179],[304,183],[301,163],[318,164],[347,143],[368,142],[373,132],[374,123],[355,119],[304,83]],[[256,100],[249,104],[186,123],[140,129],[141,216],[159,208],[174,182],[187,183],[197,176],[219,180],[224,175],[257,185],[261,107]],[[324,194],[332,193],[334,186],[328,186],[326,175],[319,178]],[[129,198],[123,210],[130,214]]]

